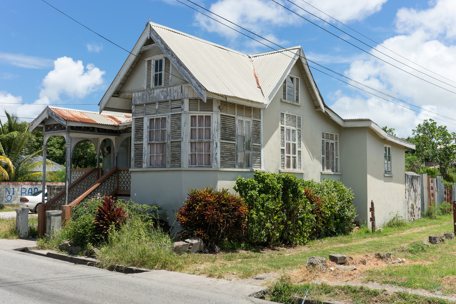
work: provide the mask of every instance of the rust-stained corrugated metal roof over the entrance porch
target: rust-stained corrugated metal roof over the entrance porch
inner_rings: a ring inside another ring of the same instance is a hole
[[[65,120],[79,121],[91,124],[117,125],[131,121],[131,115],[102,115],[97,112],[49,107],[57,115]]]

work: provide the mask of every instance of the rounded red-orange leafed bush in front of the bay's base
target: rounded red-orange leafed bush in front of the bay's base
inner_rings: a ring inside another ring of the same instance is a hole
[[[230,194],[227,189],[214,191],[207,187],[189,189],[176,220],[183,229],[181,237],[200,237],[217,251],[216,246],[225,238],[244,231],[246,214],[247,206],[241,197]]]

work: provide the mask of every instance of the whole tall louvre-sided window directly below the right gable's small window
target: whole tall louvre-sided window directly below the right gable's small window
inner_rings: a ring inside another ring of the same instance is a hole
[[[280,169],[301,170],[301,116],[280,113]]]

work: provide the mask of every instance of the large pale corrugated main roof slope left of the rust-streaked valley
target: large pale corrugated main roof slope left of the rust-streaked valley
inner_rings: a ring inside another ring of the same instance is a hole
[[[153,22],[150,26],[207,91],[264,103],[247,54]]]

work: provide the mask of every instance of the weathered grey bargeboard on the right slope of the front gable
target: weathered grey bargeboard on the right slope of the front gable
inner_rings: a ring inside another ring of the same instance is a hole
[[[166,44],[166,42],[161,38],[161,36],[155,31],[155,29],[150,25],[150,37],[155,41],[157,46],[160,48],[166,57],[171,61],[171,63],[177,68],[181,75],[188,81],[196,93],[206,102],[206,88],[198,81],[198,79],[193,76],[192,72],[184,65],[184,63],[176,56],[176,54],[171,50],[171,48]]]

